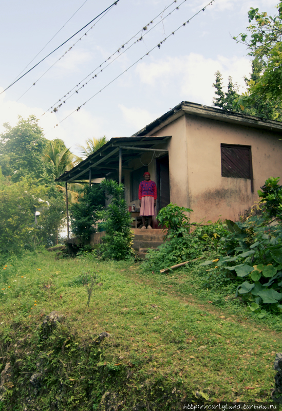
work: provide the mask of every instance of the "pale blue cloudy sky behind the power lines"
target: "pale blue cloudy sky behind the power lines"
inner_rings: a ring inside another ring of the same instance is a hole
[[[3,2],[0,92],[113,2]],[[209,0],[172,3],[119,0],[0,95],[0,133],[35,115],[48,140],[79,154],[86,139],[129,137],[181,101],[211,106],[217,70],[243,91],[250,57],[233,36],[246,32],[250,7],[274,15],[277,0],[215,0],[204,11]]]

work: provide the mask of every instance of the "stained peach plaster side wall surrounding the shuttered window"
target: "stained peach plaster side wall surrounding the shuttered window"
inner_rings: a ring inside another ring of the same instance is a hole
[[[266,130],[186,115],[190,208],[193,221],[237,220],[257,201],[257,190],[272,176],[282,177],[282,142]],[[220,144],[250,145],[251,181],[221,177]]]

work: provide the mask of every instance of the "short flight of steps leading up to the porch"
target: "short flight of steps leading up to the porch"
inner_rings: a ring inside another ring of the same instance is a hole
[[[144,258],[149,248],[157,248],[163,243],[166,231],[159,229],[142,230],[135,228],[131,230],[134,234],[133,249],[137,251],[139,257]]]

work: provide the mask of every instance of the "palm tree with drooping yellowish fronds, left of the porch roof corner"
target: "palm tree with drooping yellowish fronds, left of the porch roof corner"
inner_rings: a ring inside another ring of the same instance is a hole
[[[57,140],[49,141],[45,149],[45,153],[42,157],[45,163],[51,163],[54,170],[55,177],[59,177],[65,171],[71,170],[81,160],[80,157],[72,154],[69,148],[62,146],[61,142]],[[63,193],[66,192],[62,183],[57,184],[58,190]],[[82,188],[82,184],[69,183],[68,184],[68,200],[70,202],[76,202],[79,196],[78,190]]]

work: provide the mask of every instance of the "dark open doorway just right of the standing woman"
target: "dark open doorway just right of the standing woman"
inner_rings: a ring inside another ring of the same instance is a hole
[[[158,158],[157,164],[157,213],[171,202],[170,197],[170,163],[168,155]]]

